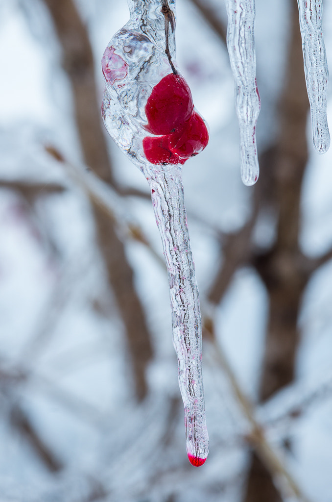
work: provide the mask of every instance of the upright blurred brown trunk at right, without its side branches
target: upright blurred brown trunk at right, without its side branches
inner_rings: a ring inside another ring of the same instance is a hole
[[[269,320],[263,358],[259,398],[267,400],[294,378],[299,342],[298,314],[310,276],[308,260],[299,249],[300,197],[307,164],[305,88],[298,9],[291,2],[289,48],[284,88],[279,104],[280,133],[271,175],[277,220],[276,241],[253,264],[269,296]],[[245,502],[280,502],[264,459],[254,455],[249,470]]]

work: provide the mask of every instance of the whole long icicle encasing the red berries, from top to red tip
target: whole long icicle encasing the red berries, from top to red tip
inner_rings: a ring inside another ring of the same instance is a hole
[[[181,165],[205,148],[208,133],[175,60],[175,0],[128,0],[128,5],[130,20],[111,39],[102,59],[102,116],[110,136],[151,189],[168,269],[187,453],[199,466],[207,458],[209,438],[200,303]]]

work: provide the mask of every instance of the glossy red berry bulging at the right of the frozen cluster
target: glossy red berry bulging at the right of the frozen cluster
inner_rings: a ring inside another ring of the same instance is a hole
[[[200,153],[209,142],[209,133],[203,118],[196,112],[192,114],[182,131],[170,135],[170,150],[188,159]]]

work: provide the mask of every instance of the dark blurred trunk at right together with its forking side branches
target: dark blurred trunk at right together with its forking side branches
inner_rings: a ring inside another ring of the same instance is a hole
[[[212,16],[214,18],[217,16]],[[213,28],[211,20],[209,22]],[[259,395],[262,401],[293,379],[302,295],[314,270],[332,258],[332,250],[329,250],[319,259],[311,260],[299,247],[301,187],[308,160],[306,121],[309,106],[295,0],[291,1],[290,24],[285,83],[279,103],[280,134],[275,144],[260,156],[261,177],[254,189],[253,215],[242,229],[226,240],[222,264],[208,294],[208,299],[218,304],[234,272],[244,265],[253,266],[265,284],[269,320]],[[254,248],[253,229],[259,214],[268,208],[275,214],[277,232],[273,246],[262,252]],[[280,502],[268,473],[267,459],[259,455],[257,449],[256,452],[245,502]]]

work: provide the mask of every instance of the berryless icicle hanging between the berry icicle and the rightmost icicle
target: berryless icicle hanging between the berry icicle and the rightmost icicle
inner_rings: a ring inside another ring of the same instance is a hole
[[[240,126],[241,177],[245,185],[256,183],[259,165],[256,122],[260,97],[256,83],[254,0],[226,0],[227,48],[235,81],[235,106]]]

